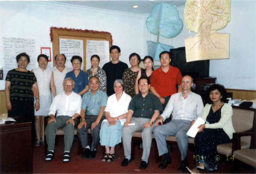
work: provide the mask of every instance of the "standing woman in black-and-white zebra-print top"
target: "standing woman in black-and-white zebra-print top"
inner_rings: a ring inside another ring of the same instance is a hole
[[[99,89],[101,91],[107,92],[106,72],[99,67],[99,61],[100,61],[100,58],[97,54],[94,54],[93,56],[91,56],[91,68],[88,69],[86,72],[88,75],[88,79],[91,76],[97,76],[99,78]]]

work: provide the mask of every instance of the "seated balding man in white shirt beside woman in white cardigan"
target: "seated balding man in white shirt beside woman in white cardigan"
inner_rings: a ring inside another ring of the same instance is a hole
[[[159,169],[165,169],[172,160],[169,156],[165,137],[175,136],[177,138],[178,147],[181,152],[181,166],[178,172],[185,172],[188,166],[187,152],[188,152],[188,136],[187,132],[192,120],[200,117],[203,113],[203,101],[200,95],[191,91],[193,86],[193,78],[191,76],[184,76],[181,81],[182,92],[173,94],[167,103],[163,113],[155,122],[157,126],[154,129],[155,140],[157,141],[157,148],[159,156],[165,156],[165,159],[159,164]],[[172,121],[163,125],[163,121],[173,115]]]

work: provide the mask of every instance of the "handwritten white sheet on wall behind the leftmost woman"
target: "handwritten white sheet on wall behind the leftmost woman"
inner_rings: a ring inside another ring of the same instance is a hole
[[[19,53],[26,52],[29,55],[30,63],[27,66],[29,71],[35,68],[37,61],[37,56],[35,55],[35,39],[2,37],[2,50],[2,56],[4,60],[3,79],[5,79],[8,71],[18,67],[16,56]]]

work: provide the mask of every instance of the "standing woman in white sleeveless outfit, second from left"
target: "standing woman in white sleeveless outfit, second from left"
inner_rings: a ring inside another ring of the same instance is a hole
[[[39,146],[40,144],[44,144],[44,116],[47,116],[49,113],[49,108],[52,103],[50,89],[55,97],[56,88],[54,85],[52,69],[46,68],[48,65],[48,56],[40,54],[37,57],[37,62],[39,68],[33,69],[32,71],[37,78],[39,89],[40,109],[38,111],[35,110],[35,133],[37,136],[35,145]]]

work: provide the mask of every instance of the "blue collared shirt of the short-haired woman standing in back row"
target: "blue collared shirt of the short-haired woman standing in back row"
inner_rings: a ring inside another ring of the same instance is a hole
[[[73,71],[70,71],[66,74],[65,78],[71,78],[74,80],[75,82],[75,87],[73,89],[73,91],[78,94],[80,91],[82,91],[88,84],[88,76],[87,76],[87,73],[84,72],[84,71],[80,71],[78,76],[76,77],[75,73],[74,73],[74,70]],[[83,95],[82,95],[83,97]]]

